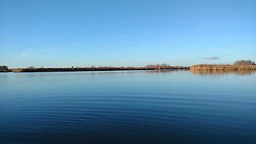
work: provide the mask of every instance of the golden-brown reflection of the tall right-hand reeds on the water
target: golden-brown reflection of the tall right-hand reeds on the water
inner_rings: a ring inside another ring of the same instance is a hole
[[[216,71],[210,71],[210,70],[190,70],[193,74],[196,75],[252,75],[256,71],[246,71],[246,70],[238,70],[238,71],[222,71],[222,70],[216,70]]]

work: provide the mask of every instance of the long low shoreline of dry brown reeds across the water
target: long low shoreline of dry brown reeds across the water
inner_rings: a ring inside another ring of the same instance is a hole
[[[191,70],[191,71],[255,71],[256,64],[230,65],[230,64],[198,64],[192,67],[71,67],[71,68],[15,68],[4,69],[0,72],[88,72],[88,71],[122,71],[122,70]]]

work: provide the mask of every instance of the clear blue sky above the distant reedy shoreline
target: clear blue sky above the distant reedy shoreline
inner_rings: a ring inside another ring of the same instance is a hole
[[[256,61],[255,0],[0,0],[0,65]]]

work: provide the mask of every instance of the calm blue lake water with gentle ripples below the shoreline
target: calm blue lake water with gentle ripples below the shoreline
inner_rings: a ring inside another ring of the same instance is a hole
[[[0,143],[256,143],[256,73],[0,73]]]

